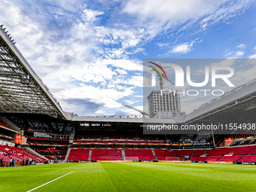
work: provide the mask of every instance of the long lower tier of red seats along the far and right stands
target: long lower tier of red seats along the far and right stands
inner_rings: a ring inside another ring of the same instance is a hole
[[[118,141],[124,142],[124,141]],[[131,141],[132,142],[132,141]],[[124,149],[126,157],[138,157],[138,160],[156,160],[152,150],[149,149]],[[251,151],[251,152],[250,152]],[[69,154],[69,160],[88,160],[90,150],[72,149]],[[230,162],[254,162],[256,159],[255,146],[236,147],[236,148],[217,148],[215,150],[207,149],[189,149],[189,150],[163,150],[154,149],[158,160],[182,160],[184,156],[190,157],[190,160],[196,161],[230,161]],[[250,154],[248,154],[250,153]],[[246,155],[243,157],[243,155]],[[242,159],[241,159],[242,158]],[[123,160],[120,149],[92,149],[91,160]]]

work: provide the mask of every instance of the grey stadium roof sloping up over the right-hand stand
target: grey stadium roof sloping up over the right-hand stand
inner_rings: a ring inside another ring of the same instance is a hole
[[[212,99],[200,108],[187,114],[185,123],[196,120],[242,120],[254,119],[256,111],[256,80],[235,87],[223,96]]]

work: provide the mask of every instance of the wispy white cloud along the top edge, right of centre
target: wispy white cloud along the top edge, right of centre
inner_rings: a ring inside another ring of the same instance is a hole
[[[241,14],[251,1],[203,0],[134,0],[123,6],[123,13],[137,18],[137,26],[145,26],[145,36],[153,38],[168,29],[181,26],[185,30],[199,22],[202,29]],[[200,11],[198,11],[200,10]]]

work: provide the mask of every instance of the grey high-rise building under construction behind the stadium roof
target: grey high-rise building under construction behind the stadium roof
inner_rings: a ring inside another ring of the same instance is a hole
[[[151,118],[166,119],[181,115],[181,103],[178,93],[162,93],[153,90],[148,96],[148,108]]]

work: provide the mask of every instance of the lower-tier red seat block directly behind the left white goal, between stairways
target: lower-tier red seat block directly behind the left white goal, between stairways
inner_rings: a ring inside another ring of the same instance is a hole
[[[139,157],[139,160],[156,160],[151,150],[126,149],[126,157]]]

